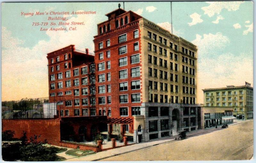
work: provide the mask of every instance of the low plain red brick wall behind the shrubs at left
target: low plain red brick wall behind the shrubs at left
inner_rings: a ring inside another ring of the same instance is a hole
[[[60,120],[23,120],[2,119],[2,131],[15,131],[15,138],[20,138],[23,131],[27,131],[27,137],[41,135],[38,140],[47,139],[48,143],[60,145]]]

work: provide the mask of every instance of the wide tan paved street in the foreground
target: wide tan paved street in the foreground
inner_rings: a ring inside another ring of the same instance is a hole
[[[120,148],[120,150],[122,150]],[[100,161],[244,160],[253,154],[253,120]]]

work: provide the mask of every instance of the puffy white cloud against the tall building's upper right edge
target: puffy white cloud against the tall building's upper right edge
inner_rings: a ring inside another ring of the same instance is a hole
[[[203,37],[196,34],[196,39],[191,42],[197,46],[198,56],[207,58],[212,56],[212,51],[214,52],[226,47],[230,43],[230,40],[227,36],[223,36],[222,33],[218,32],[216,34],[204,34]]]

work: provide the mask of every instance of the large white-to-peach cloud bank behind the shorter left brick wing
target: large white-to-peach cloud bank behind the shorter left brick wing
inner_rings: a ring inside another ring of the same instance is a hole
[[[48,96],[47,53],[70,44],[76,45],[76,49],[89,48],[89,52],[93,52],[94,45],[88,40],[92,40],[97,30],[88,26],[100,20],[95,15],[76,15],[67,20],[72,21],[84,21],[85,25],[76,26],[76,31],[48,30],[49,39],[38,41],[32,48],[24,47],[23,40],[12,37],[12,33],[2,27],[2,100]]]

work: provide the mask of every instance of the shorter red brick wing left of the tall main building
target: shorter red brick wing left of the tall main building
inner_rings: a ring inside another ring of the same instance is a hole
[[[47,54],[49,102],[57,116],[96,115],[94,55],[74,45]]]

